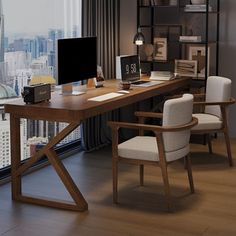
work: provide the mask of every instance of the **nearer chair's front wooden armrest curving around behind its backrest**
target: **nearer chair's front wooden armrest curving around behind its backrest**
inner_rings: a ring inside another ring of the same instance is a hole
[[[196,117],[193,117],[191,122],[189,122],[186,125],[176,125],[176,126],[158,126],[158,125],[146,125],[146,124],[138,124],[138,123],[108,121],[108,125],[113,130],[118,130],[120,128],[144,129],[144,130],[151,130],[157,133],[183,131],[183,130],[192,128],[197,123],[198,123],[198,119]]]

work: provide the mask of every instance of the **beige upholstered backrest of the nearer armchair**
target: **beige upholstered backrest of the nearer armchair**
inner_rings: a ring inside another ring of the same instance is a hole
[[[164,104],[163,126],[184,125],[192,120],[193,95],[184,94],[181,98],[167,100]],[[166,152],[177,151],[189,145],[190,129],[163,133]]]

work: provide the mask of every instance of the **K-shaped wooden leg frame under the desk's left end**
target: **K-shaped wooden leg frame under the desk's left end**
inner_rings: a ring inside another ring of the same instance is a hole
[[[68,134],[70,134],[75,128],[80,125],[80,122],[72,122],[66,128],[64,128],[59,134],[57,134],[50,142],[38,151],[34,156],[30,157],[29,160],[21,165],[21,150],[20,150],[20,118],[11,114],[10,116],[11,125],[11,168],[12,168],[12,199],[25,202],[38,204],[48,207],[55,207],[74,211],[86,211],[88,204],[84,199],[83,195],[79,191],[78,187],[74,183],[70,174],[62,164],[61,160],[57,156],[53,147],[63,140]],[[61,181],[65,185],[67,191],[74,200],[72,202],[60,201],[55,199],[43,198],[22,194],[21,177],[22,174],[30,168],[36,161],[42,158],[44,155],[47,156],[49,162],[56,170]]]

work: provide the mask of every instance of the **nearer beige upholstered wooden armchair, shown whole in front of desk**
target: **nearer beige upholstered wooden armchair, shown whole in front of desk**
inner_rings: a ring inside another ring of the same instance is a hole
[[[191,164],[189,159],[190,129],[197,124],[192,118],[193,96],[184,94],[181,98],[167,100],[163,114],[136,112],[139,123],[109,122],[112,128],[112,169],[113,202],[117,203],[118,162],[140,166],[140,184],[143,185],[144,165],[157,165],[161,168],[168,208],[171,208],[171,196],[167,165],[185,158],[191,192],[194,192]],[[144,124],[145,117],[162,118],[162,126]],[[120,128],[138,129],[139,136],[118,144]],[[152,131],[155,136],[143,136],[144,130]]]

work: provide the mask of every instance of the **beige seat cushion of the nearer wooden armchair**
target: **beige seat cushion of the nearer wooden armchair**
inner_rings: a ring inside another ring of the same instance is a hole
[[[186,156],[189,153],[189,145],[172,152],[166,152],[166,160],[174,161]],[[118,155],[120,157],[159,161],[159,152],[156,137],[136,136],[118,145]]]

